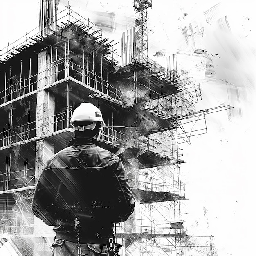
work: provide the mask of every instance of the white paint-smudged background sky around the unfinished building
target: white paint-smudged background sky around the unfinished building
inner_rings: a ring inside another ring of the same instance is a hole
[[[132,0],[71,0],[70,5],[103,27],[104,22],[115,26],[106,32],[115,40],[121,40],[121,32],[134,19]],[[115,13],[115,18],[97,20],[104,12]],[[38,26],[38,18],[38,0],[1,1],[0,49]],[[207,134],[183,146],[183,159],[189,162],[181,169],[189,198],[187,233],[213,235],[219,256],[255,255],[255,25],[255,4],[250,0],[153,0],[148,10],[149,56],[157,51],[164,57],[179,53],[178,70],[188,70],[202,87],[198,110],[234,107],[229,118],[226,111],[208,115]],[[205,77],[204,65],[198,68],[201,59],[189,56],[199,48],[213,62],[211,79]],[[162,64],[162,59],[155,60]]]

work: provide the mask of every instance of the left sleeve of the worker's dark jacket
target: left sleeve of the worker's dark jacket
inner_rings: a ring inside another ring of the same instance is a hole
[[[47,166],[44,168],[37,182],[31,207],[36,217],[43,220],[46,225],[53,226],[55,225],[53,218],[55,209],[52,186],[49,182],[50,172],[46,168]]]

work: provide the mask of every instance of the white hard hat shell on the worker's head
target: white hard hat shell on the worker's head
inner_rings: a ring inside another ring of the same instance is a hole
[[[76,121],[96,121],[101,123],[101,128],[105,126],[99,108],[87,102],[81,103],[80,106],[74,110],[70,124],[74,126],[74,122]]]

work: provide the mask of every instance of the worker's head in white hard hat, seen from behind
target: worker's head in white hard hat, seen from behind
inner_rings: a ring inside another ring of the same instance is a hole
[[[100,132],[105,126],[99,108],[91,103],[81,103],[72,115],[70,124],[74,127],[76,136],[99,139]]]

